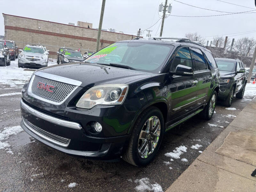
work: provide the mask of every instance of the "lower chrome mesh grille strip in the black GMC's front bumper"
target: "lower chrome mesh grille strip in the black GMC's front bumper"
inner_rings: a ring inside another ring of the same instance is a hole
[[[27,119],[25,119],[24,117],[22,117],[23,123],[26,125],[26,127],[34,132],[36,135],[38,135],[39,137],[42,137],[45,140],[48,140],[52,143],[55,143],[57,145],[63,146],[63,147],[68,147],[69,143],[70,143],[70,139],[67,139],[65,137],[60,137],[59,135],[55,135],[53,133],[50,133],[48,131],[45,131],[39,127],[37,127],[36,125],[30,123]]]

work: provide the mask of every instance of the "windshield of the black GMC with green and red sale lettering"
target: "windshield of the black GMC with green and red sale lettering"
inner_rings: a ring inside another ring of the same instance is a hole
[[[96,64],[114,63],[158,74],[173,48],[172,45],[120,42],[101,49],[85,61]]]

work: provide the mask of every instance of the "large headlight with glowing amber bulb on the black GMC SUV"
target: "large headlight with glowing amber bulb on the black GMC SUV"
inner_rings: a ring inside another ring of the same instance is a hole
[[[127,84],[97,85],[84,93],[76,107],[90,109],[95,105],[121,105],[127,92]]]

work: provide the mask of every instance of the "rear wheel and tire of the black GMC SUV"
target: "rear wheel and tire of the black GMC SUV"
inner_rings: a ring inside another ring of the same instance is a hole
[[[204,110],[201,112],[201,116],[205,120],[210,120],[215,110],[217,99],[217,92],[213,91],[210,100],[208,101],[207,105],[205,106]]]

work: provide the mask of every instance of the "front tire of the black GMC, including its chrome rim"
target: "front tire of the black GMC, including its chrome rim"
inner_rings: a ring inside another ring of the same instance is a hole
[[[124,161],[145,166],[156,156],[164,134],[164,117],[156,107],[143,111],[134,124],[131,140],[122,156]]]

